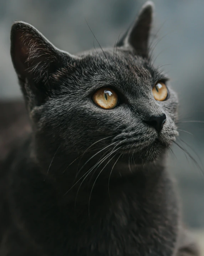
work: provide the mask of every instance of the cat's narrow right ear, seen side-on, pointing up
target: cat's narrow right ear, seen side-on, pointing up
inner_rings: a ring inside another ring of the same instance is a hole
[[[148,40],[152,25],[154,4],[147,1],[143,5],[137,20],[134,22],[127,32],[123,35],[118,46],[131,46],[138,55],[148,57]]]

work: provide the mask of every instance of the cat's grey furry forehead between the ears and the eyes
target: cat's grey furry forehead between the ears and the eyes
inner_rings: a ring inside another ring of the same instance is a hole
[[[68,62],[58,69],[53,78],[55,83],[63,84],[67,90],[74,89],[82,95],[109,86],[127,98],[137,93],[149,95],[151,87],[165,79],[148,59],[135,54],[131,49],[93,49],[77,55],[72,63]]]

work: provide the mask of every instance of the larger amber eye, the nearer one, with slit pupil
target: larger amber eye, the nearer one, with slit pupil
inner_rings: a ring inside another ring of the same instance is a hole
[[[118,95],[110,88],[101,88],[93,94],[92,100],[99,107],[112,109],[118,104]]]

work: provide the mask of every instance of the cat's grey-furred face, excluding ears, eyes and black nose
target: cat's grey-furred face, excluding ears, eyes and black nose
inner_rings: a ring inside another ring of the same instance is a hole
[[[143,162],[158,158],[177,134],[173,121],[177,98],[168,81],[167,100],[155,100],[152,92],[154,84],[166,77],[127,50],[118,49],[114,62],[113,50],[104,49],[109,63],[102,51],[97,51],[102,60],[93,51],[53,74],[58,95],[32,111],[32,118],[40,116],[36,122],[38,131],[42,137],[49,132],[48,141],[50,136],[54,136],[54,141],[59,136],[61,147],[70,151],[83,153],[100,140],[91,149],[112,144],[110,148],[117,149],[116,153],[129,155],[134,151],[136,162],[138,157]],[[101,88],[117,93],[116,107],[105,109],[96,105],[93,95]],[[166,121],[159,132],[144,122],[149,116],[163,114]]]

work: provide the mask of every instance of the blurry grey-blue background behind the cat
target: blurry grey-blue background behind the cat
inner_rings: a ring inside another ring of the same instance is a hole
[[[85,18],[102,47],[113,46],[143,3],[142,0],[0,0],[0,101],[21,97],[10,59],[10,28],[14,21],[34,25],[58,48],[76,53],[93,47],[94,37]],[[204,228],[204,123],[188,122],[204,121],[204,1],[154,0],[154,3],[152,46],[157,41],[158,44],[153,59],[156,58],[158,66],[168,64],[163,69],[178,92],[178,119],[184,121],[179,129],[193,134],[180,131],[178,143],[197,161],[195,164],[174,146],[168,166],[177,178],[185,222],[191,228]]]

